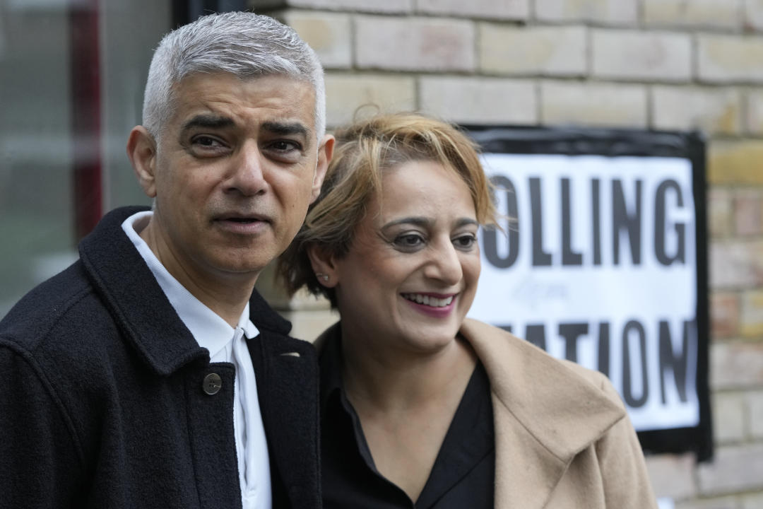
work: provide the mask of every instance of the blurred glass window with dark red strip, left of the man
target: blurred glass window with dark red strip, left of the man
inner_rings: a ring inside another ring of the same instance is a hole
[[[0,0],[0,317],[103,211],[150,203],[124,147],[171,24],[171,0]]]

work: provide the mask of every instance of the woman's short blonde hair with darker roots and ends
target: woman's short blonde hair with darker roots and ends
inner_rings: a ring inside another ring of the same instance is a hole
[[[385,169],[410,161],[432,161],[455,172],[468,186],[477,221],[495,225],[496,211],[478,147],[461,130],[421,114],[379,114],[336,130],[336,148],[304,225],[278,260],[278,273],[289,295],[307,286],[336,306],[333,288],[317,281],[307,256],[319,246],[341,258],[353,242],[366,204],[381,189]]]

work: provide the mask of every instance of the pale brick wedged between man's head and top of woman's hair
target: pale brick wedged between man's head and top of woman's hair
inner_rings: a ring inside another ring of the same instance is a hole
[[[416,108],[416,82],[410,76],[326,75],[327,124],[336,127],[353,119],[357,108],[375,105],[381,111]]]

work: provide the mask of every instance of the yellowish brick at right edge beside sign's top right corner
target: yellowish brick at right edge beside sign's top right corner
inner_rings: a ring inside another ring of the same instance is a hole
[[[710,140],[707,182],[763,185],[763,141]]]

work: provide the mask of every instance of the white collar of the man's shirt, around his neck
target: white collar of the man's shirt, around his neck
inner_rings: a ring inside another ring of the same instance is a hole
[[[133,214],[122,223],[122,229],[145,260],[146,265],[156,278],[156,282],[159,283],[185,327],[191,331],[199,346],[209,350],[210,357],[214,357],[230,343],[235,330],[217,313],[199,301],[198,298],[195,298],[191,292],[188,292],[185,286],[181,285],[159,262],[146,241],[140,237],[138,232],[146,227],[152,215],[152,211]],[[237,328],[239,327],[243,329],[243,333],[248,339],[259,334],[259,330],[250,320],[249,302],[246,303],[246,307],[239,318]]]

